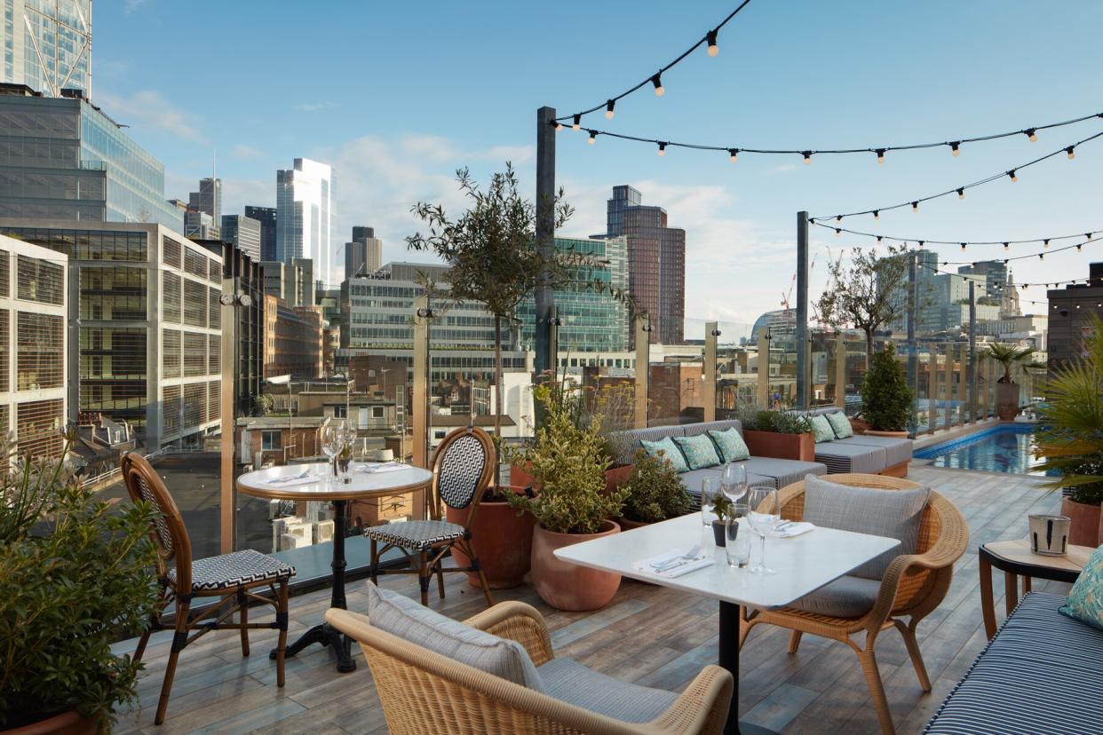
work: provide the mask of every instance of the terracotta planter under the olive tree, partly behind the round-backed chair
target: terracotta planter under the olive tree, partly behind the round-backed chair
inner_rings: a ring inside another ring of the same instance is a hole
[[[502,489],[514,493],[525,490],[524,487]],[[463,523],[468,519],[468,509],[448,508],[447,518],[453,523]],[[518,517],[508,502],[483,501],[479,505],[475,522],[471,526],[471,543],[479,554],[479,563],[491,590],[516,587],[525,581],[531,566],[535,527],[536,519],[531,512]],[[471,564],[471,559],[456,547],[452,548],[452,559],[457,566]],[[472,587],[482,587],[474,572],[468,572],[468,582]]]

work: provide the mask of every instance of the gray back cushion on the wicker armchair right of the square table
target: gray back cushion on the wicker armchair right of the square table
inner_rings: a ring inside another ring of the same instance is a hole
[[[885,570],[901,554],[915,553],[919,526],[931,488],[881,490],[850,487],[808,476],[804,480],[803,520],[816,526],[856,533],[885,536],[900,545],[852,570],[854,576],[880,581]]]

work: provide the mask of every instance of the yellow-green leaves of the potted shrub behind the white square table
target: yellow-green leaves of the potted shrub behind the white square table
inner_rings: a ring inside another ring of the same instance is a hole
[[[553,390],[549,385],[533,388],[533,397],[544,410],[544,423],[536,429],[532,444],[524,450],[503,448],[507,462],[527,464],[537,495],[512,495],[506,500],[532,512],[549,531],[597,533],[606,518],[621,515],[629,490],[606,491],[609,457],[598,421],[576,425],[569,404],[557,403]]]

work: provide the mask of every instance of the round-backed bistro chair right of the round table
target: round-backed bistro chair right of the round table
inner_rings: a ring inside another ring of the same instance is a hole
[[[479,501],[494,476],[497,454],[490,435],[482,429],[465,426],[448,434],[432,455],[432,487],[429,495],[429,519],[385,523],[364,529],[372,542],[372,582],[381,574],[417,574],[421,587],[421,604],[429,604],[429,582],[437,575],[437,587],[445,596],[445,572],[475,572],[482,583],[486,605],[493,605],[490,585],[471,543],[471,525],[479,511]],[[468,510],[463,523],[452,523],[441,517],[442,506]],[[379,548],[379,544],[383,544]],[[471,560],[470,566],[445,566],[445,556],[453,547]],[[398,549],[409,562],[409,569],[379,569],[379,556]]]

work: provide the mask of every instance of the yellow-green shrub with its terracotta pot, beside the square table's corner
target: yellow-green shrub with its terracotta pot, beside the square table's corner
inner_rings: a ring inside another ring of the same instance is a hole
[[[598,421],[578,426],[569,409],[557,402],[548,385],[533,389],[544,410],[544,422],[524,450],[505,447],[514,465],[527,466],[538,488],[535,497],[507,495],[518,511],[536,519],[533,531],[533,585],[547,604],[565,610],[603,607],[620,588],[620,574],[560,561],[555,550],[620,532],[609,520],[621,515],[625,488],[606,490],[609,458],[602,448]]]

